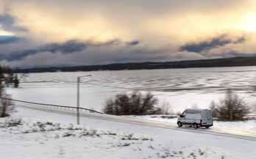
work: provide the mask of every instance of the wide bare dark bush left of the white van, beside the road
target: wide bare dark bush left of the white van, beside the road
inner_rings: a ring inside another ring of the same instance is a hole
[[[157,108],[157,98],[150,92],[146,95],[141,92],[118,94],[114,99],[107,100],[103,111],[112,115],[152,115],[162,112],[161,108]]]

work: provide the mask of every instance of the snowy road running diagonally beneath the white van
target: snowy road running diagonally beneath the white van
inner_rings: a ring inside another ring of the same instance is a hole
[[[69,116],[76,116],[75,111],[65,110],[65,109],[58,109],[58,108],[45,108],[45,107],[37,107],[35,106],[21,106],[23,108],[38,110],[38,111],[46,111],[55,114],[65,114]],[[160,127],[172,130],[179,130],[179,131],[186,131],[191,133],[201,133],[201,134],[210,134],[215,136],[227,136],[232,138],[242,138],[247,140],[256,141],[256,132],[250,130],[235,130],[230,128],[223,128],[223,127],[211,127],[210,129],[199,128],[194,130],[193,128],[189,127],[177,127],[174,123],[168,122],[160,122],[160,121],[152,121],[149,119],[138,119],[135,117],[117,117],[111,116],[106,114],[92,114],[92,113],[85,113],[81,112],[80,117],[82,118],[90,118],[90,119],[98,119],[98,120],[105,120],[111,122],[123,122],[129,123],[133,125],[143,125],[143,126],[150,126],[150,127]]]

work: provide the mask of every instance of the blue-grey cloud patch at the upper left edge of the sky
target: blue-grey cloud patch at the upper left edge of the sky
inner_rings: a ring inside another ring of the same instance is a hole
[[[4,30],[10,32],[26,32],[24,27],[16,25],[16,18],[9,14],[0,15],[0,24]]]

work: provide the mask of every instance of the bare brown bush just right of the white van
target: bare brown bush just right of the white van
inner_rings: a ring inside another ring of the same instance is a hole
[[[246,103],[230,89],[227,90],[224,100],[219,103],[212,102],[210,108],[213,111],[213,117],[222,121],[243,120],[249,114],[249,107]]]

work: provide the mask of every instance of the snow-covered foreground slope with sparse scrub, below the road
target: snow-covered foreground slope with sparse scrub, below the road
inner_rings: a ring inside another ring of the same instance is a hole
[[[26,108],[0,119],[0,158],[248,158],[255,140],[81,118]],[[59,124],[60,123],[60,124]],[[132,134],[132,135],[131,135]]]

